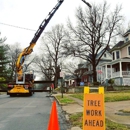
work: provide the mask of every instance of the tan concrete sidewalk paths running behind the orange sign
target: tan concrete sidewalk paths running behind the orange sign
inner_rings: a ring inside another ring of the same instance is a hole
[[[55,94],[56,95],[56,94]],[[60,94],[61,95],[61,94]],[[69,96],[69,94],[64,94]],[[63,105],[62,109],[68,114],[83,112],[83,101],[69,96],[77,103]],[[105,117],[113,122],[125,124],[130,126],[130,113],[122,113],[120,110],[130,111],[130,101],[106,102],[105,103]],[[81,130],[79,127],[72,127],[71,130]]]

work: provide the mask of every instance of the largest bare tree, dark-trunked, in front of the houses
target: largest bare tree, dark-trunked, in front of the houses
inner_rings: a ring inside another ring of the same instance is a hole
[[[111,39],[119,34],[118,28],[123,17],[120,15],[121,7],[116,6],[109,12],[109,6],[104,1],[102,5],[92,4],[92,8],[85,11],[79,7],[76,11],[77,25],[74,27],[70,20],[68,27],[68,43],[64,45],[64,54],[73,55],[90,62],[93,66],[93,80],[97,81],[96,66],[108,49]],[[98,53],[102,54],[96,59]]]

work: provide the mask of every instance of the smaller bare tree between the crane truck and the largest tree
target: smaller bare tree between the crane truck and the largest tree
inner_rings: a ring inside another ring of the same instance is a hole
[[[37,62],[42,72],[47,76],[47,70],[52,71],[55,87],[57,87],[57,80],[59,77],[60,63],[62,62],[62,47],[65,43],[66,35],[63,25],[56,25],[52,29],[44,34],[42,37],[42,54],[40,61]],[[49,76],[48,78],[52,78]]]

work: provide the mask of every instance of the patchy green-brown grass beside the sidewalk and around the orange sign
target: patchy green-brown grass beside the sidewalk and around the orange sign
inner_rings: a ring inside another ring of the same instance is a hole
[[[76,93],[70,96],[83,100],[83,93]],[[130,91],[105,92],[104,98],[105,98],[105,102],[130,100]],[[57,99],[62,104],[75,102],[74,100],[69,99],[69,97],[65,95],[63,98],[61,98],[61,96],[57,96]],[[82,117],[83,117],[83,113],[75,113],[69,115],[71,125],[79,126],[80,128],[82,128],[82,120],[83,120]],[[105,122],[106,122],[105,123],[106,130],[130,130],[130,128],[128,128],[127,126],[112,122],[108,119],[105,119]]]

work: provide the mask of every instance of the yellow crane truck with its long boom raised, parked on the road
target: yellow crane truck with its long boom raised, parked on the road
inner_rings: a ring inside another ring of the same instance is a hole
[[[30,45],[19,54],[16,62],[16,81],[8,83],[8,95],[14,96],[18,94],[26,94],[31,96],[33,94],[34,91],[32,90],[34,89],[34,72],[23,72],[23,63],[26,56],[32,53],[33,47],[35,46],[37,40],[63,1],[64,0],[58,1],[51,12],[49,12],[48,16],[40,24],[32,41],[30,42]]]

